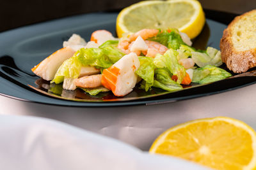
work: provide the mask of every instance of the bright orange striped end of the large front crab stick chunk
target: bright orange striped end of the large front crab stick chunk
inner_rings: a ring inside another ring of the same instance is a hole
[[[106,87],[109,90],[115,91],[116,89],[116,81],[117,76],[119,74],[120,69],[115,66],[111,66],[108,69],[104,69],[102,71],[102,79],[101,83],[104,87]]]

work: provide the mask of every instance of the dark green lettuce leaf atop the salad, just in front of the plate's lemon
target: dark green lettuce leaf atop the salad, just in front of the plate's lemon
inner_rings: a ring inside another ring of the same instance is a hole
[[[182,41],[177,29],[169,29],[169,31],[159,30],[159,33],[156,36],[149,38],[148,40],[157,41],[158,43],[161,43],[168,48],[173,48],[174,50],[179,49],[180,45],[186,45],[186,43]]]

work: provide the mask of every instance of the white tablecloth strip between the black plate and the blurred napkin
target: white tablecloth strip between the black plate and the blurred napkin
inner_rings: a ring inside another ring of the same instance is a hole
[[[161,132],[196,118],[232,117],[256,129],[256,84],[176,103],[115,108],[49,106],[0,96],[0,113],[60,120],[147,151]]]

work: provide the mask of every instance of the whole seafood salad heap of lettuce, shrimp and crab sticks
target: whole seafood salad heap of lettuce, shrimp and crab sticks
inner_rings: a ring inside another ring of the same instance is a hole
[[[196,50],[191,45],[177,29],[142,29],[120,39],[98,30],[87,43],[73,34],[63,48],[31,70],[51,83],[63,83],[63,89],[79,88],[91,96],[108,91],[125,96],[135,86],[173,92],[182,90],[182,85],[232,76],[218,67],[222,64],[219,50]]]

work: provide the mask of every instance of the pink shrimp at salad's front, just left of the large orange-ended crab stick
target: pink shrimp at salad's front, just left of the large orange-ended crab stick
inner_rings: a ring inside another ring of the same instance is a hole
[[[77,87],[94,88],[102,85],[102,74],[95,74],[92,76],[83,76],[75,81]]]

